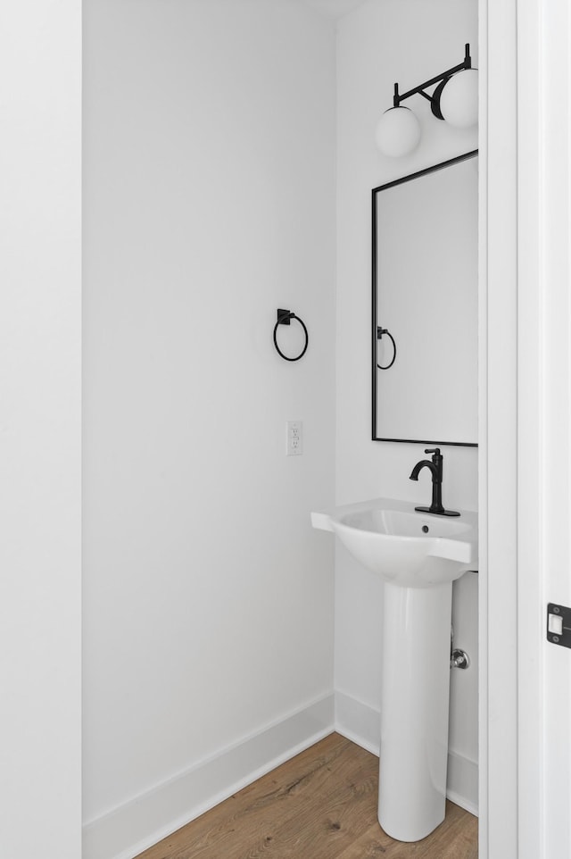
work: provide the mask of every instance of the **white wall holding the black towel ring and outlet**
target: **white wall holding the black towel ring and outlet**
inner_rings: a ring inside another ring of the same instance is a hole
[[[333,23],[88,0],[84,143],[93,823],[333,689]]]

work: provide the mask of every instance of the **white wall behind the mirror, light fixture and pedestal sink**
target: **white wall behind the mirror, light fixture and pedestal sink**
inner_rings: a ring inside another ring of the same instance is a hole
[[[421,446],[370,440],[370,189],[477,147],[476,131],[434,119],[418,96],[418,150],[379,154],[374,130],[401,91],[460,63],[470,43],[477,66],[476,0],[369,0],[341,19],[337,56],[337,380],[336,501],[375,496],[429,500],[429,480],[411,482]],[[412,102],[413,99],[411,99]],[[413,106],[411,104],[411,106]],[[414,253],[411,246],[411,253]],[[444,503],[477,508],[477,451],[443,448]],[[335,688],[380,708],[382,583],[336,548]],[[454,625],[473,667],[451,675],[451,750],[477,761],[477,580],[454,586]]]

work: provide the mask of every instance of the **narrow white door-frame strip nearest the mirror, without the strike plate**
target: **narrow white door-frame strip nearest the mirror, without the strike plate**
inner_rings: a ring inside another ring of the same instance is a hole
[[[479,11],[479,855],[517,859],[516,3]]]

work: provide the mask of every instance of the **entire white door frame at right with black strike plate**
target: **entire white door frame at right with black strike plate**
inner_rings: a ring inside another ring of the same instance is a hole
[[[570,32],[566,0],[480,0],[481,859],[571,838]]]

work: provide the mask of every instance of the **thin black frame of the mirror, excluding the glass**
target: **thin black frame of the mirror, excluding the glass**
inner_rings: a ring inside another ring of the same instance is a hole
[[[455,158],[450,158],[448,161],[443,161],[439,164],[434,164],[433,167],[426,167],[424,170],[419,170],[415,173],[410,173],[408,176],[403,176],[401,179],[393,179],[392,182],[387,182],[385,185],[379,185],[371,191],[371,265],[372,265],[372,440],[373,441],[396,441],[401,444],[411,445],[439,445],[453,447],[477,447],[477,442],[462,442],[462,441],[443,441],[442,438],[378,438],[377,437],[377,194],[379,191],[385,191],[387,188],[394,188],[396,185],[402,185],[404,182],[410,182],[412,179],[419,179],[421,176],[426,176],[427,173],[434,173],[438,170],[443,170],[445,167],[451,167],[452,164],[458,164],[463,161],[468,161],[469,158],[475,158],[478,154],[477,149],[472,149],[470,152],[458,155]],[[381,368],[383,369],[383,368]]]

